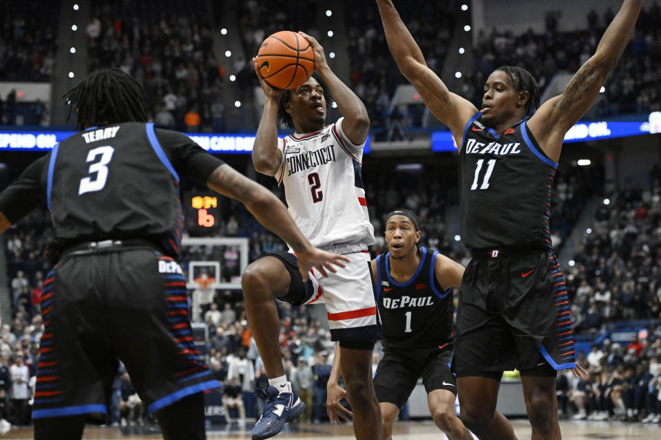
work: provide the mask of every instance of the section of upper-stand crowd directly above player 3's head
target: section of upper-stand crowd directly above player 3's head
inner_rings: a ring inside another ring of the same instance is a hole
[[[85,29],[89,71],[116,67],[136,78],[157,126],[222,131],[224,68],[206,4],[107,1]]]

